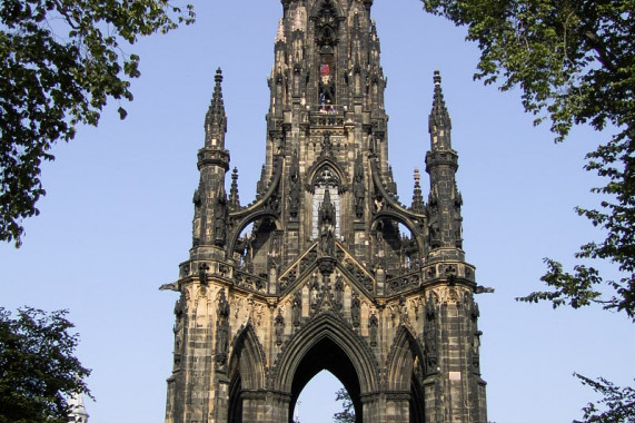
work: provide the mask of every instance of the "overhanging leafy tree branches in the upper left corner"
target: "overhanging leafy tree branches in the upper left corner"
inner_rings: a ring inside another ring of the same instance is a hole
[[[39,214],[53,145],[97,126],[108,100],[132,100],[139,57],[122,48],[194,20],[168,0],[0,2],[0,240],[19,247],[22,220]]]

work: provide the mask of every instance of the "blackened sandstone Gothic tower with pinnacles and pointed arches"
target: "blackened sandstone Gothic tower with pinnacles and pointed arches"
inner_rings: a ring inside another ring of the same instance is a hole
[[[180,293],[166,423],[291,422],[323,370],[345,385],[357,422],[486,423],[477,285],[440,76],[428,198],[415,170],[407,206],[388,165],[373,0],[281,3],[265,164],[248,205],[238,171],[227,178],[215,77],[192,248],[163,286]]]

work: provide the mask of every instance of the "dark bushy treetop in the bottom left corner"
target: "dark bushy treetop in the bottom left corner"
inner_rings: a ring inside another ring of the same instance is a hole
[[[0,423],[67,423],[72,394],[90,396],[67,312],[0,307]]]

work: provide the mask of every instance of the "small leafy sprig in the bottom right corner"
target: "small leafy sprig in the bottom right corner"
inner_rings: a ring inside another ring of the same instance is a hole
[[[584,385],[591,386],[603,396],[598,404],[588,403],[583,409],[584,420],[576,420],[574,423],[635,423],[635,390],[633,387],[615,386],[604,377],[594,381],[577,373],[574,373],[574,375],[579,378]],[[606,411],[599,411],[598,405]]]

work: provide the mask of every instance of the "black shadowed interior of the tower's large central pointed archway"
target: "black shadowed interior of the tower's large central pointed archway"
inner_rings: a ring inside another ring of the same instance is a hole
[[[294,409],[305,386],[319,372],[326,370],[337,377],[353,401],[356,423],[363,422],[359,378],[355,366],[346,353],[330,338],[324,337],[316,343],[300,361],[291,384],[291,403],[289,405],[289,423],[294,421]]]

